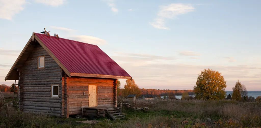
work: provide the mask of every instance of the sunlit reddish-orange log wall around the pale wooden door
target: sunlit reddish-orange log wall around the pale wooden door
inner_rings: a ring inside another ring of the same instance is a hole
[[[115,106],[114,81],[114,79],[67,77],[69,114],[81,114],[81,108],[88,107],[88,84],[97,85],[98,106]],[[85,95],[83,92],[85,92]],[[66,109],[64,108],[63,111],[66,111]]]

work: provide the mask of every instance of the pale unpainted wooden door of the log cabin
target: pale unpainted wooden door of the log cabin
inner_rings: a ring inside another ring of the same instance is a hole
[[[89,85],[89,107],[97,106],[97,85]]]

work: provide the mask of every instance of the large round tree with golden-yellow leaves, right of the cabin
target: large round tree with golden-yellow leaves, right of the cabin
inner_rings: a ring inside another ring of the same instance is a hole
[[[225,99],[226,87],[226,81],[221,73],[212,69],[204,69],[198,75],[194,86],[195,98],[206,100]]]

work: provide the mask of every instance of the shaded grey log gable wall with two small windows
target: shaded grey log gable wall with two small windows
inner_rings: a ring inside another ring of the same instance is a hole
[[[45,68],[37,69],[37,57],[45,56]],[[62,69],[39,44],[23,64],[20,76],[20,109],[24,112],[62,116]],[[59,85],[59,98],[51,97],[51,85]]]

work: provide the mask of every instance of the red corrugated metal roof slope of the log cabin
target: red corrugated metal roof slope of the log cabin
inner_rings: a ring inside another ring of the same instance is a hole
[[[70,73],[131,77],[97,45],[35,33]]]

